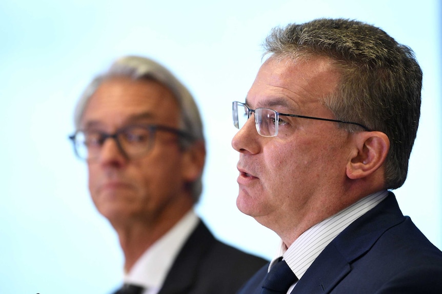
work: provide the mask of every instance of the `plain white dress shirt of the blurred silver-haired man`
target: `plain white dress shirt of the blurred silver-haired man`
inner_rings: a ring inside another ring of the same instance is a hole
[[[143,294],[157,294],[176,256],[198,222],[198,216],[190,210],[169,232],[146,250],[130,272],[125,273],[124,282],[145,287]]]

